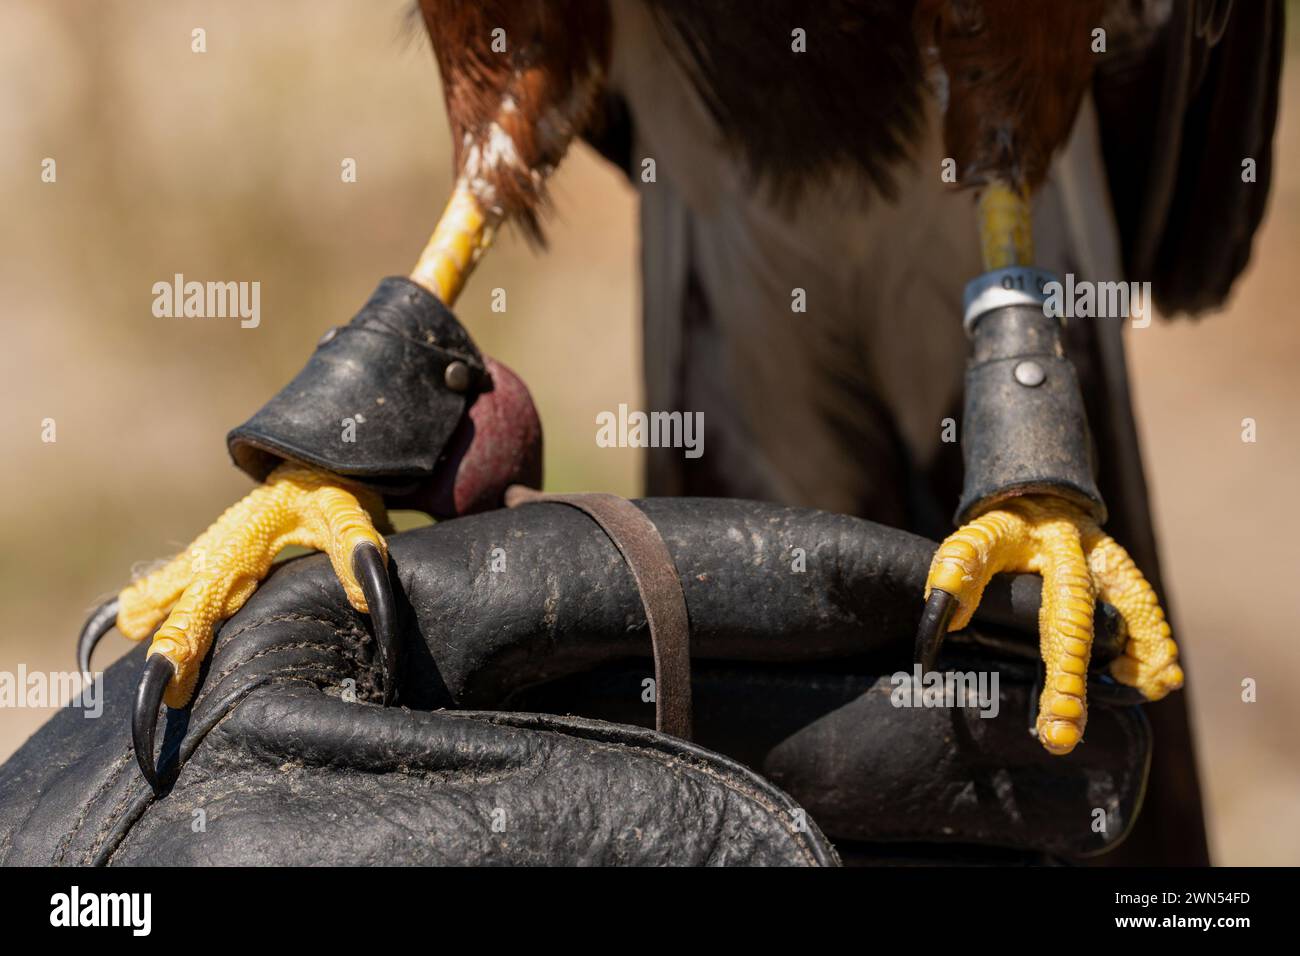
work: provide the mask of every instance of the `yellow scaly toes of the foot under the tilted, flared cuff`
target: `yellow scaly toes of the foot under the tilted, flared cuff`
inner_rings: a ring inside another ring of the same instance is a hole
[[[281,464],[185,551],[118,594],[117,630],[143,640],[162,622],[148,653],[162,654],[174,666],[164,700],[170,708],[183,708],[216,626],[243,606],[285,548],[326,551],[347,600],[368,613],[351,558],[363,541],[387,558],[376,524],[387,528],[377,494],[344,488],[303,466]]]

